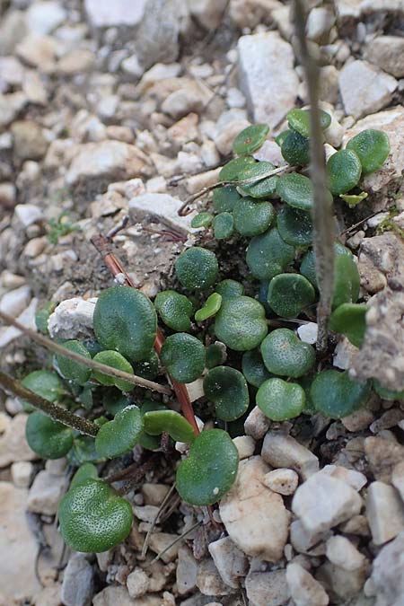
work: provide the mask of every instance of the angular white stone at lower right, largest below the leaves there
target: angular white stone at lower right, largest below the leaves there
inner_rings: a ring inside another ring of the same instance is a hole
[[[292,510],[312,532],[327,531],[359,514],[362,499],[340,479],[316,473],[297,488]]]

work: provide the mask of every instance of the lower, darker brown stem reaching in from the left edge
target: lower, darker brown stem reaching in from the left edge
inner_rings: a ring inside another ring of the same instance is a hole
[[[54,421],[72,427],[72,429],[76,429],[81,434],[95,437],[100,429],[100,427],[95,423],[92,423],[92,421],[87,421],[87,419],[75,415],[73,412],[70,412],[70,410],[66,410],[66,408],[62,408],[53,402],[44,400],[37,393],[27,390],[23,387],[21,382],[15,381],[13,377],[2,371],[0,371],[0,385],[4,391],[9,391],[13,393],[13,395],[18,396],[23,400],[27,400],[33,407],[39,408],[42,412],[45,412],[49,417],[53,418]]]

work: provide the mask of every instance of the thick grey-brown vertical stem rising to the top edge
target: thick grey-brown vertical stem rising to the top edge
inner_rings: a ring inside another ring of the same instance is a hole
[[[294,0],[294,27],[299,40],[302,64],[306,76],[310,101],[310,151],[311,177],[313,185],[313,227],[314,253],[316,259],[317,282],[320,301],[317,306],[318,338],[317,349],[323,353],[327,349],[328,323],[334,292],[334,218],[333,200],[327,189],[325,155],[319,110],[319,66],[306,40],[306,6],[304,0]]]

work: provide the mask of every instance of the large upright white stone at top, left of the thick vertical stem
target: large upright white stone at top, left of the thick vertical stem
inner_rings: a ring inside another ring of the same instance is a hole
[[[296,99],[293,48],[277,31],[242,36],[237,46],[240,88],[253,119],[277,127]]]

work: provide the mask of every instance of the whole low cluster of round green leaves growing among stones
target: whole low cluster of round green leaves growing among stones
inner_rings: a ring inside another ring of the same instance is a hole
[[[319,293],[309,113],[292,110],[287,119],[288,129],[276,138],[284,166],[252,155],[268,138],[266,125],[247,127],[235,138],[234,158],[220,171],[212,201],[192,220],[207,248],[197,245],[180,253],[171,289],[157,294],[154,303],[127,285],[103,291],[95,305],[94,338],[61,344],[82,361],[57,354],[49,368],[23,379],[25,388],[79,410],[97,429],[96,435],[81,435],[24,403],[31,448],[47,459],[66,456],[76,469],[58,512],[62,535],[73,549],[104,551],[127,537],[131,506],[99,477],[99,463],[136,445],[157,451],[162,436],[188,445],[174,461],[176,489],[191,505],[214,505],[233,486],[239,463],[233,437],[242,435],[243,420],[254,406],[274,422],[315,414],[338,419],[364,406],[373,389],[383,398],[402,396],[377,382],[354,381],[347,371],[332,368],[329,357],[319,359],[297,334],[301,324],[315,321]],[[321,112],[324,130],[330,120]],[[349,140],[327,162],[327,196],[347,209],[361,204],[363,176],[379,170],[389,152],[380,131],[364,130]],[[360,299],[356,259],[337,235],[329,330],[360,347],[366,304]],[[224,241],[235,251],[245,250],[242,278],[221,267]],[[38,316],[42,332],[52,309],[49,305]],[[158,331],[164,339],[156,349]],[[178,412],[173,392],[134,389],[133,382],[94,370],[85,360],[162,385],[167,385],[164,373],[172,382],[202,382],[205,395],[196,410],[207,428],[198,433]]]

